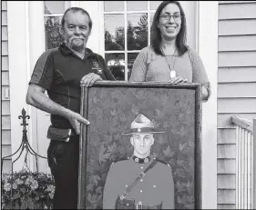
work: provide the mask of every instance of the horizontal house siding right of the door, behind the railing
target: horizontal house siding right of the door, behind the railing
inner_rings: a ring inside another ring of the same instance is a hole
[[[256,118],[256,1],[219,1],[218,208],[235,208],[236,130]]]

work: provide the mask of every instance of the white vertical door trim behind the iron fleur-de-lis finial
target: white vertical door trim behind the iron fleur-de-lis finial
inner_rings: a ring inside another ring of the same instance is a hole
[[[9,80],[10,80],[10,113],[11,113],[11,142],[12,153],[18,149],[23,136],[22,123],[18,116],[21,110],[26,109],[26,115],[31,115],[26,105],[26,90],[28,87],[27,70],[29,69],[29,35],[28,35],[28,2],[7,1],[7,25],[8,25],[8,55],[9,55]],[[18,19],[17,19],[18,18]],[[17,22],[18,21],[18,22]],[[31,124],[31,118],[26,120]],[[29,126],[27,127],[29,128]],[[32,133],[28,129],[28,140],[32,144]],[[19,153],[17,154],[19,155]],[[14,161],[17,155],[12,157]],[[14,165],[14,171],[21,169],[24,158],[21,156]],[[28,165],[31,167],[32,158]]]

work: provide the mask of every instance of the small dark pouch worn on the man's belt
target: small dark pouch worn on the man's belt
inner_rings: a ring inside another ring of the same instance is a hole
[[[71,136],[77,135],[71,128],[57,128],[53,125],[50,125],[47,131],[47,138],[61,141],[61,142],[68,142]]]

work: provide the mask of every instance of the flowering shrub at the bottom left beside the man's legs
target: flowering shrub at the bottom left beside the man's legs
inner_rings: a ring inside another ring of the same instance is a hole
[[[2,175],[2,209],[52,209],[55,184],[52,175],[23,170]]]

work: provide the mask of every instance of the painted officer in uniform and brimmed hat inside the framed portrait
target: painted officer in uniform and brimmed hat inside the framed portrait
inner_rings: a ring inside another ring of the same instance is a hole
[[[133,155],[110,165],[103,194],[104,209],[174,209],[171,167],[150,156],[157,131],[147,116],[131,123]]]

